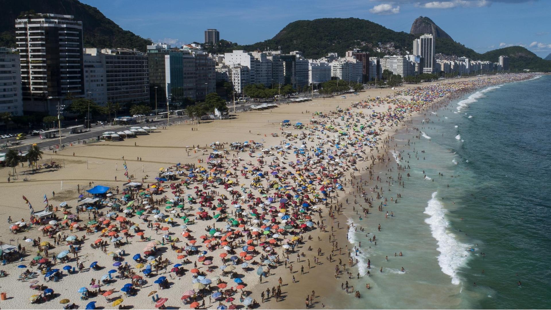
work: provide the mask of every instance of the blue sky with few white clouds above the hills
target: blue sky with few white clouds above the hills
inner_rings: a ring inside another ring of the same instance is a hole
[[[218,29],[220,39],[252,44],[295,20],[331,17],[368,19],[409,33],[423,15],[477,52],[520,45],[540,57],[551,53],[551,0],[80,1],[125,30],[174,46],[203,42],[207,28]]]

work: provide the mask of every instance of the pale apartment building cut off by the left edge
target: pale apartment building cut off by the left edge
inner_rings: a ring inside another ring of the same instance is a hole
[[[19,57],[0,47],[0,113],[23,115]]]

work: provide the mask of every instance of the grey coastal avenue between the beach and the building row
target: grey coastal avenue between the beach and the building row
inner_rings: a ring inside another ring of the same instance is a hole
[[[318,95],[314,95],[314,98],[317,98]],[[271,103],[277,103],[277,101],[272,101]],[[287,100],[282,100],[280,101],[280,103],[290,103],[290,99],[287,99]],[[244,104],[237,104],[236,103],[236,111],[242,111],[242,110],[245,110],[245,109],[249,109],[252,105],[260,105],[262,103],[258,103],[258,102],[246,102]],[[229,104],[229,111],[231,113],[231,111],[233,111],[233,104]],[[98,136],[101,136],[101,134],[105,131],[123,131],[123,130],[128,130],[130,129],[130,127],[134,127],[134,126],[155,126],[155,127],[158,127],[158,126],[166,126],[166,119],[161,119],[160,121],[159,120],[156,120],[155,121],[155,116],[148,116],[148,117],[143,117],[144,119],[147,118],[148,121],[153,121],[153,122],[148,122],[147,124],[145,123],[140,123],[140,124],[134,124],[134,125],[127,125],[127,126],[117,126],[117,125],[106,125],[105,127],[103,127],[102,125],[97,125],[97,126],[93,126],[93,127],[90,127],[90,131],[83,131],[82,133],[73,133],[73,134],[69,134],[69,131],[67,129],[62,129],[61,130],[61,141],[63,143],[63,145],[69,145],[71,143],[76,143],[77,141],[84,141],[84,140],[89,140],[91,138],[96,138]],[[170,124],[175,124],[177,122],[182,122],[182,121],[186,121],[186,120],[189,120],[190,117],[187,116],[187,115],[181,115],[181,116],[171,116],[170,117]],[[46,139],[46,140],[41,140],[40,139],[40,136],[28,136],[29,138],[21,141],[21,145],[14,145],[14,146],[10,146],[8,148],[15,148],[15,149],[19,149],[20,151],[22,152],[25,152],[27,149],[30,148],[31,145],[33,145],[34,143],[36,143],[37,145],[40,146],[40,148],[42,149],[42,151],[45,151],[46,149],[50,148],[50,147],[55,147],[57,145],[60,144],[60,138],[59,137],[56,137],[56,138],[50,138],[50,139]],[[7,143],[9,141],[14,141],[15,138],[10,138],[10,139],[6,139],[6,141],[1,141],[0,143],[4,144],[4,143]],[[0,152],[6,152],[5,150],[0,150]]]

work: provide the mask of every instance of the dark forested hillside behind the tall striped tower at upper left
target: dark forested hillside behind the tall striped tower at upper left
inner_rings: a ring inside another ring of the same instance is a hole
[[[124,30],[98,9],[77,0],[0,0],[0,46],[15,46],[15,19],[23,12],[74,15],[82,21],[85,47],[146,50],[150,40]]]

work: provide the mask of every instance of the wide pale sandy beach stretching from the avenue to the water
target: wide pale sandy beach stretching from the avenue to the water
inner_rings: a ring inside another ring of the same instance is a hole
[[[306,296],[315,291],[310,307],[336,308],[334,284],[344,282],[346,272],[354,277],[359,272],[356,261],[352,259],[349,264],[354,249],[347,240],[347,217],[343,212],[355,207],[361,214],[354,200],[373,199],[371,207],[379,205],[374,198],[377,193],[367,190],[372,186],[369,182],[364,185],[364,181],[369,181],[374,165],[392,160],[388,152],[392,134],[407,124],[408,117],[431,106],[493,83],[527,78],[528,74],[510,74],[371,89],[359,95],[347,94],[346,98],[319,98],[247,111],[229,120],[182,122],[125,141],[77,144],[57,153],[43,150],[38,164],[53,161],[61,168],[42,168],[26,174],[30,180],[23,181],[21,173],[31,171],[24,163],[17,167],[18,180],[9,183],[12,169],[0,169],[0,218],[4,223],[0,241],[15,247],[20,244],[26,251],[20,260],[0,268],[7,272],[7,277],[0,278],[0,292],[6,292],[8,298],[0,301],[0,307],[53,309],[64,306],[60,301],[68,299],[66,304],[75,303],[80,309],[92,301],[95,307],[113,308],[113,303],[122,298],[120,305],[155,308],[158,298],[168,298],[161,300],[161,308],[244,308],[248,304],[302,308]],[[419,87],[425,89],[415,90]],[[434,87],[434,95],[427,94],[430,87]],[[125,173],[142,186],[127,190],[128,196],[121,200],[123,184],[128,182]],[[163,183],[155,179],[163,177],[169,179]],[[104,205],[98,205],[97,211],[94,207],[80,211],[78,220],[68,217],[77,215],[76,207],[82,205],[79,195],[93,198],[86,190],[97,185],[110,188],[106,191],[111,193],[109,196],[96,195]],[[155,194],[160,187],[164,188],[162,193]],[[51,225],[50,233],[44,228],[39,230],[47,223],[31,225],[29,205],[23,199],[39,212],[46,206],[45,195],[48,204],[58,210],[54,212],[58,222]],[[175,200],[175,196],[179,198]],[[65,213],[60,207],[62,202],[70,206]],[[121,212],[108,216],[114,203],[121,205]],[[239,210],[242,213],[238,218]],[[164,216],[158,216],[159,212]],[[8,224],[8,217],[12,223]],[[100,220],[102,217],[105,220]],[[117,220],[119,217],[125,219]],[[94,219],[97,224],[88,223]],[[18,221],[26,224],[13,229]],[[78,223],[78,227],[69,229],[71,223]],[[59,244],[49,236],[57,237]],[[73,242],[70,236],[84,239]],[[111,242],[117,237],[121,239]],[[91,247],[100,238],[99,244],[106,242],[105,250]],[[48,255],[44,246],[41,252],[39,246],[33,247],[44,241],[51,244]],[[72,253],[75,246],[78,250]],[[69,260],[57,260],[52,265],[52,256],[63,250],[71,250],[64,256]],[[145,254],[146,250],[151,253]],[[143,259],[141,267],[133,259],[136,254]],[[37,255],[48,261],[31,266]],[[101,269],[89,267],[94,261]],[[116,261],[120,266],[114,266]],[[79,271],[80,263],[84,268]],[[20,265],[25,267],[18,268]],[[148,265],[153,265],[153,270],[159,266],[159,270],[147,272],[153,275],[150,277],[143,272]],[[68,274],[63,266],[75,267],[76,271]],[[222,270],[223,266],[230,272]],[[48,268],[60,269],[61,275],[52,275],[46,282]],[[108,273],[111,269],[114,272]],[[32,274],[18,279],[25,270]],[[110,275],[105,279],[108,284],[91,285],[91,279],[97,284],[104,275]],[[166,281],[160,281],[160,285],[154,282],[163,276]],[[282,285],[276,301],[273,293],[277,292],[279,279]],[[138,283],[140,280],[143,282]],[[201,286],[201,281],[207,284]],[[131,283],[129,293],[121,291]],[[31,287],[40,284],[51,288],[53,295],[47,301],[31,303],[31,299],[40,301],[41,296],[50,294],[40,291],[44,287]],[[237,288],[239,285],[242,288]],[[81,287],[88,293],[79,292]],[[188,290],[195,292],[183,295]],[[351,288],[350,298],[355,291],[363,292],[365,287]],[[220,297],[213,295],[216,293]],[[39,297],[30,299],[33,295]]]

